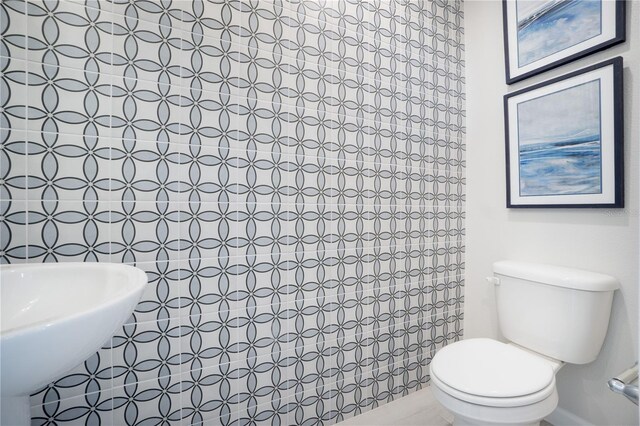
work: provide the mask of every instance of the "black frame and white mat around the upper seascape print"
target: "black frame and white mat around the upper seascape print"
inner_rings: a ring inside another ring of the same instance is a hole
[[[549,1],[549,3],[553,3],[553,0]],[[535,62],[520,67],[519,65],[514,65],[516,62],[515,59],[519,55],[519,53],[514,53],[517,52],[519,48],[519,44],[517,42],[517,34],[514,34],[514,31],[517,33],[514,25],[515,27],[517,27],[518,23],[517,18],[515,18],[514,15],[515,12],[513,12],[513,9],[517,7],[517,0],[502,0],[505,76],[507,84],[513,84],[518,81],[522,81],[526,78],[543,73],[553,68],[557,68],[561,65],[575,61],[576,59],[583,58],[585,56],[591,55],[592,53],[599,52],[618,43],[624,42],[626,37],[626,1],[615,0],[615,4],[613,4],[613,2],[606,2],[606,0],[603,0],[603,2],[601,2],[601,5],[606,5],[606,7],[610,7],[612,9],[611,11],[608,11],[607,17],[610,17],[610,15],[612,14],[615,15],[612,18],[613,22],[601,23],[601,28],[607,25],[608,32],[612,32],[612,29],[608,26],[615,26],[615,28],[613,29],[614,35],[612,37],[604,37],[604,35],[592,37],[576,45],[568,46],[562,51],[555,52],[550,56],[540,58]],[[516,22],[513,22],[513,18],[515,18]],[[604,18],[605,17],[603,16],[601,19]],[[607,21],[609,21],[609,19],[607,19]],[[581,47],[584,48],[581,49]],[[562,52],[566,52],[566,56],[563,56]]]

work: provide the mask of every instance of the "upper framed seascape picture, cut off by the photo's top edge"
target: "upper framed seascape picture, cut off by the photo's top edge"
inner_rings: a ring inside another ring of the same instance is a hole
[[[508,84],[625,38],[624,0],[503,0],[502,19]]]

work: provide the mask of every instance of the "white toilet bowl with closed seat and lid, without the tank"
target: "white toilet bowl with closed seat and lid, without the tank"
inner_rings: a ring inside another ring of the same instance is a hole
[[[431,361],[435,398],[455,425],[537,425],[558,405],[562,363],[492,339],[469,339]]]

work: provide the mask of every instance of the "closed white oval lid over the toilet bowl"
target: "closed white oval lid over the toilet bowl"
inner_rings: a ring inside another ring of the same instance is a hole
[[[550,363],[492,339],[469,339],[440,349],[431,374],[465,394],[515,398],[540,392],[554,383]]]

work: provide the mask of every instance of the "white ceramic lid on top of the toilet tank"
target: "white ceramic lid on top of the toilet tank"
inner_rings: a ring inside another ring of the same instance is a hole
[[[493,264],[493,272],[497,275],[584,291],[613,291],[620,287],[618,280],[609,275],[540,263],[501,260]]]

